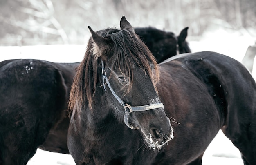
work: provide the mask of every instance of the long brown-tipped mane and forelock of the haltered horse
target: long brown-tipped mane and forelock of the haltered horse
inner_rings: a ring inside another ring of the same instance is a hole
[[[70,91],[69,109],[73,110],[73,113],[79,114],[81,109],[87,107],[92,109],[96,87],[100,86],[101,60],[113,62],[111,69],[118,68],[128,74],[130,76],[129,88],[132,86],[132,63],[134,61],[144,70],[145,74],[150,76],[154,86],[159,80],[157,62],[137,34],[130,32],[129,29],[115,28],[107,28],[97,33],[110,39],[109,47],[100,51],[92,37],[89,39],[85,56],[78,67]],[[154,71],[151,69],[150,62],[153,64]]]

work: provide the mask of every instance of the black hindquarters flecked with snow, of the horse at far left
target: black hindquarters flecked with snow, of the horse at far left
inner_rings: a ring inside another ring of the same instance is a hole
[[[68,153],[65,109],[78,64],[31,59],[0,62],[0,164],[25,165],[37,147]],[[51,141],[54,135],[58,138]]]

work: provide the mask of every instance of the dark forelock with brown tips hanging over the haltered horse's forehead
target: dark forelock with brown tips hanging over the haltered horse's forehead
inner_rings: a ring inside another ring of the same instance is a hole
[[[144,70],[145,74],[150,76],[155,85],[159,80],[158,65],[148,47],[139,39],[139,36],[125,29],[114,33],[110,38],[114,42],[114,54],[110,59],[113,61],[113,69],[118,67],[121,72],[130,76],[130,87],[132,86],[132,63],[134,62]],[[156,74],[152,73],[150,63],[153,64]]]

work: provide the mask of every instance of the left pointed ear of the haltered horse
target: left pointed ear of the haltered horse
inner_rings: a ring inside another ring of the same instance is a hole
[[[95,31],[92,30],[92,28],[90,26],[88,26],[91,34],[92,34],[92,40],[94,41],[94,43],[97,45],[98,49],[94,48],[94,54],[96,54],[97,56],[101,56],[101,52],[106,49],[106,47],[108,46],[109,43],[109,39],[105,38],[101,35],[99,35],[98,33],[96,33]]]

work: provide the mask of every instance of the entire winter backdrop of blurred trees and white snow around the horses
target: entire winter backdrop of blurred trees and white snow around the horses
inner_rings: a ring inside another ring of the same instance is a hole
[[[216,51],[240,62],[256,41],[255,0],[0,0],[0,61],[79,62],[90,37],[87,26],[94,31],[119,27],[123,15],[134,27],[177,35],[188,26],[192,52]],[[203,165],[216,164],[243,165],[221,131],[203,157]],[[27,165],[75,163],[68,154],[38,149]]]

